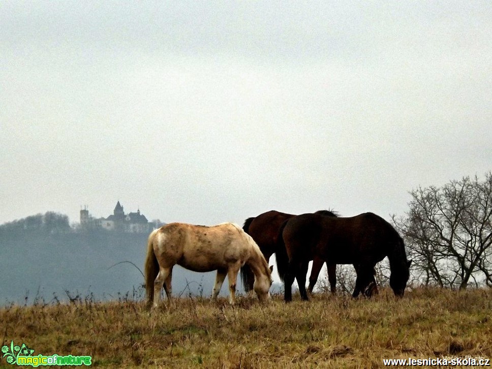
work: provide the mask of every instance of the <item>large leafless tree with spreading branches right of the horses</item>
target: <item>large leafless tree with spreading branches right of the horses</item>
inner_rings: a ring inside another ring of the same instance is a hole
[[[411,191],[406,217],[393,217],[413,271],[426,285],[492,286],[492,173]]]

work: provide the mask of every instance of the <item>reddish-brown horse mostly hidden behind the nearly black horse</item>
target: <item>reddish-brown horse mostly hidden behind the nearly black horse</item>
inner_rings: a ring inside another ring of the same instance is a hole
[[[321,214],[327,217],[336,217],[336,213],[330,210],[319,210],[316,214]],[[282,224],[295,217],[294,214],[288,214],[285,212],[270,210],[260,214],[257,217],[248,218],[242,227],[242,229],[248,233],[260,247],[261,252],[266,260],[275,253],[278,247],[277,239],[279,237],[279,230]],[[311,268],[311,276],[309,278],[309,292],[313,292],[313,288],[318,282],[318,276],[323,266],[324,261],[315,257],[313,260],[313,266]],[[336,291],[336,264],[326,263],[328,271],[328,281],[330,283],[330,290],[332,293]],[[356,267],[357,270],[357,267]],[[280,273],[280,279],[284,281],[284,274]],[[249,292],[253,290],[254,275],[248,266],[241,268],[241,280],[244,290]],[[374,280],[374,291],[377,293],[376,281]]]

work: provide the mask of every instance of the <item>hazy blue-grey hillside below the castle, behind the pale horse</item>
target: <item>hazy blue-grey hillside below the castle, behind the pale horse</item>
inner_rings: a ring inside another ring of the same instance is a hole
[[[1,228],[0,305],[69,300],[77,295],[109,300],[141,294],[139,269],[143,270],[147,236],[105,230]],[[214,279],[214,272],[195,273],[176,266],[173,291],[208,296]],[[225,287],[222,293],[227,294]]]

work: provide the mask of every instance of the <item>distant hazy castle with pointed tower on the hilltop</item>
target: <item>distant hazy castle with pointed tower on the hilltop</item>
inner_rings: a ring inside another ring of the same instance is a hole
[[[125,214],[123,207],[116,203],[113,213],[107,218],[93,218],[87,210],[87,206],[80,209],[80,226],[82,229],[105,229],[108,231],[148,233],[152,231],[156,224],[149,222],[140,209],[137,212]]]

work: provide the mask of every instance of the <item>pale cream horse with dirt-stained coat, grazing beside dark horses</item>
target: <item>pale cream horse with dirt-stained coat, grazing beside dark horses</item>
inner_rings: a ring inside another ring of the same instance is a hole
[[[256,242],[234,223],[205,227],[185,223],[167,224],[148,237],[145,260],[147,305],[159,304],[161,289],[171,300],[171,278],[174,265],[198,272],[217,270],[212,298],[217,298],[226,278],[229,280],[229,301],[235,302],[239,269],[248,265],[254,275],[254,291],[260,301],[269,297],[271,268]]]

